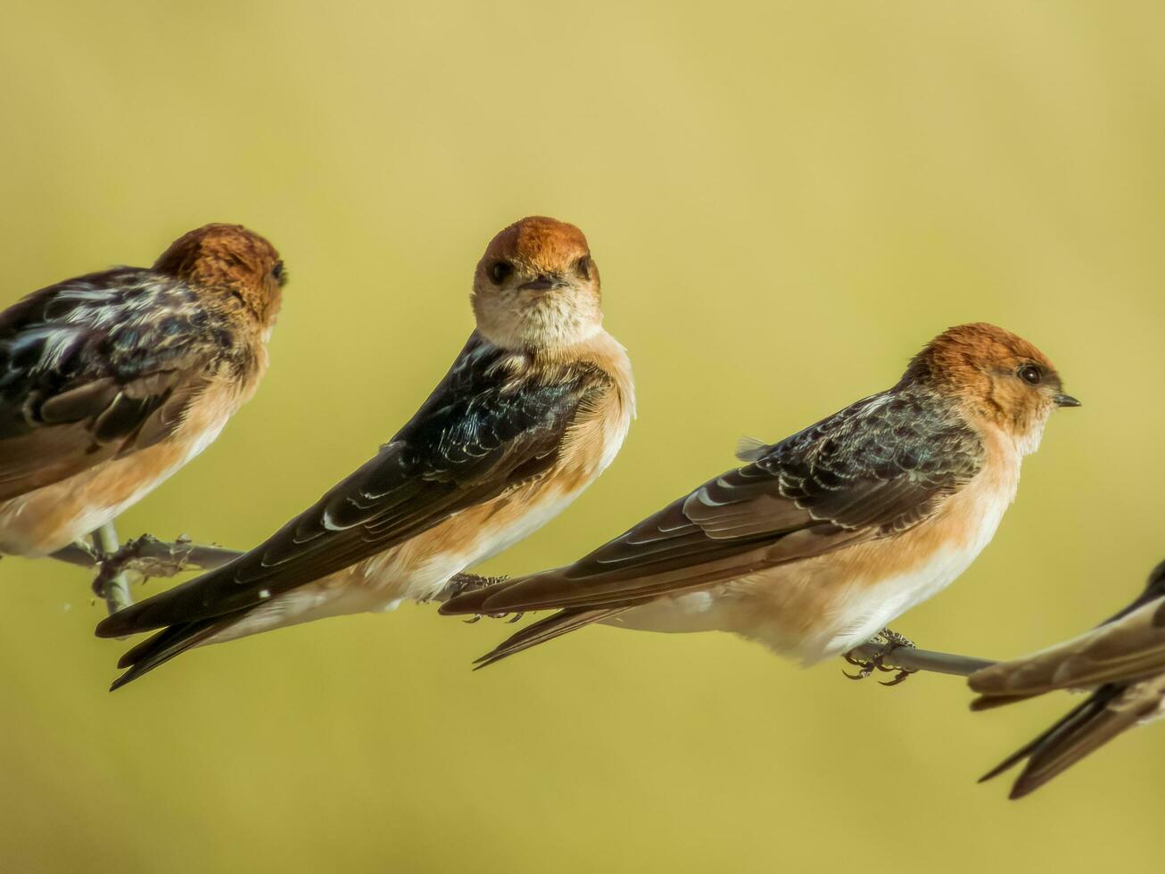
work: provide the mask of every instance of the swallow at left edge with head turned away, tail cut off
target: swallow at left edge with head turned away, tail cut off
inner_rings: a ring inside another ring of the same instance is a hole
[[[0,312],[0,552],[44,556],[206,449],[267,369],[275,248],[206,225]]]

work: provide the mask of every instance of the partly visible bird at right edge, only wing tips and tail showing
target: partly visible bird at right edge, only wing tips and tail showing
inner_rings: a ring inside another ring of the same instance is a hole
[[[967,678],[973,710],[1057,689],[1092,690],[1082,703],[980,782],[1023,762],[1010,797],[1022,798],[1129,728],[1165,716],[1165,562],[1124,609],[1079,637],[1000,662]]]

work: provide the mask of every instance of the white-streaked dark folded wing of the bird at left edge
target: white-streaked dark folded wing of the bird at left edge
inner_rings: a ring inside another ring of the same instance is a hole
[[[0,313],[0,500],[149,446],[182,422],[228,326],[183,283],[119,268]]]

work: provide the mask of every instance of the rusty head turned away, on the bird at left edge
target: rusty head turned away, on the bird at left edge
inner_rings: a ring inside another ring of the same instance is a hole
[[[239,301],[264,327],[275,322],[287,272],[280,253],[242,225],[203,225],[170,244],[154,269]]]

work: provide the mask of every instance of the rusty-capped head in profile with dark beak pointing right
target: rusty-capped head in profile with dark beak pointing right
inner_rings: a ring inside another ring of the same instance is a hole
[[[940,333],[915,355],[903,381],[925,382],[968,414],[1000,425],[1025,453],[1039,446],[1052,410],[1080,406],[1064,394],[1043,352],[983,322]]]

